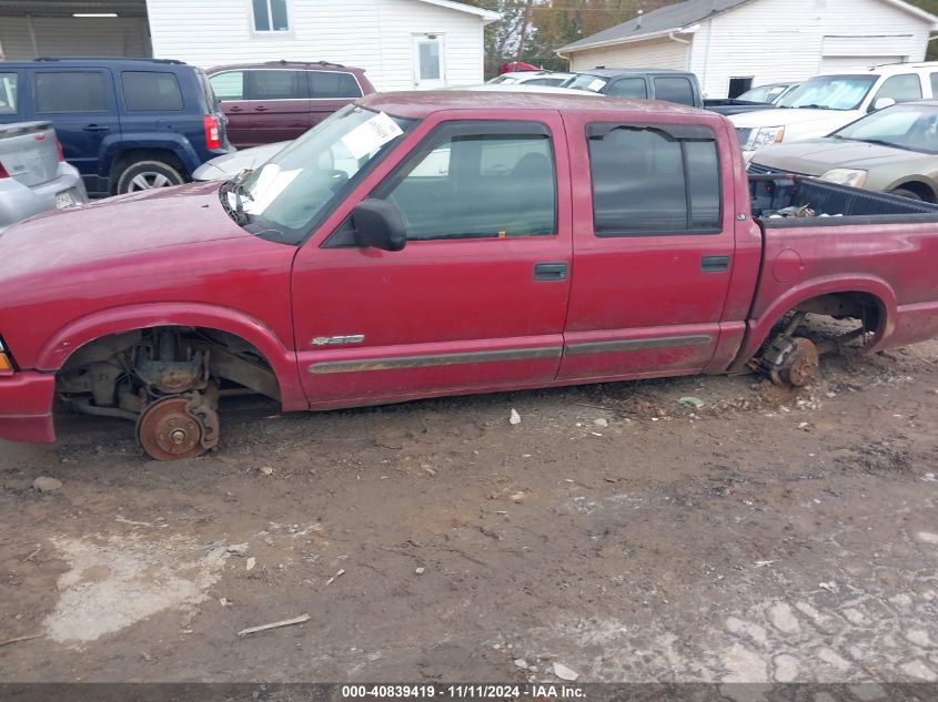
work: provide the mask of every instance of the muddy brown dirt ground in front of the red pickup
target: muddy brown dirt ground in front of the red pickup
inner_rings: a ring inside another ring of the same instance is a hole
[[[936,681],[938,342],[821,374],[65,417],[0,442],[0,680]]]

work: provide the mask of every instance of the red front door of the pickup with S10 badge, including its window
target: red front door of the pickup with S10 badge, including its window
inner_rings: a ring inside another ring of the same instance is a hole
[[[402,251],[355,244],[355,202],[300,250],[293,316],[311,406],[556,377],[572,254],[565,136],[556,113],[517,114],[423,124],[418,145],[380,166],[357,199],[400,210]]]

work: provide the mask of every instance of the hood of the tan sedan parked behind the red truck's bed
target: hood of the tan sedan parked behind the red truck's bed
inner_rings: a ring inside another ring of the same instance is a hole
[[[831,169],[861,169],[901,163],[910,166],[917,161],[934,163],[931,154],[868,144],[846,139],[810,139],[794,144],[778,144],[760,149],[753,163],[801,175],[824,175]]]

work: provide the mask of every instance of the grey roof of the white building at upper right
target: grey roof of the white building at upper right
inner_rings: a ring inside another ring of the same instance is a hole
[[[616,24],[602,32],[585,37],[579,41],[575,41],[566,47],[557,49],[557,53],[566,53],[571,51],[578,51],[593,47],[604,47],[607,44],[618,44],[629,41],[639,41],[643,39],[650,39],[667,34],[670,32],[678,32],[697,24],[712,17],[735,10],[736,8],[753,2],[754,0],[684,0],[654,12],[648,12],[642,17],[637,17],[628,22]],[[930,24],[930,28],[938,29],[938,17],[926,12],[904,0],[882,0],[898,9],[905,10],[915,14],[922,21]]]

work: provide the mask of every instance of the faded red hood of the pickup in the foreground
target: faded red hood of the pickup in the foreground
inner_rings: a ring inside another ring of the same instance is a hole
[[[100,200],[0,233],[0,279],[133,252],[252,236],[225,214],[218,183]]]

